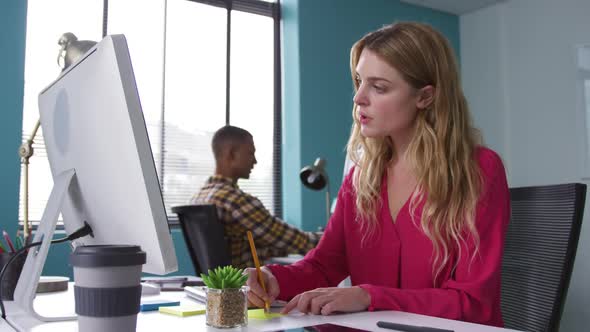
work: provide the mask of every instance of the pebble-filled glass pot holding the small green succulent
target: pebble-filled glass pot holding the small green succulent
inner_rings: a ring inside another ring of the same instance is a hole
[[[232,328],[248,325],[248,286],[215,289],[206,287],[207,325]]]

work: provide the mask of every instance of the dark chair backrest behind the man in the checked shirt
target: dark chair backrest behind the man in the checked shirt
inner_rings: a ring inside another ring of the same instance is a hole
[[[175,206],[184,241],[197,276],[218,266],[231,264],[223,225],[215,205]]]

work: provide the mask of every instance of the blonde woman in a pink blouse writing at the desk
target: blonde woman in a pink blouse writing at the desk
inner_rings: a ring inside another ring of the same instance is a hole
[[[355,167],[316,249],[248,270],[249,300],[283,309],[400,310],[502,326],[500,267],[510,217],[498,155],[481,146],[448,41],[396,23],[351,51],[348,155]],[[347,276],[352,287],[335,287]]]

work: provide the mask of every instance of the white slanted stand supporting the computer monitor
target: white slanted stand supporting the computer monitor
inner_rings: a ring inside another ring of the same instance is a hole
[[[41,223],[37,228],[33,242],[41,242],[40,246],[31,248],[14,291],[14,301],[5,302],[6,318],[10,325],[18,331],[29,331],[44,322],[75,320],[76,316],[46,317],[33,308],[33,300],[37,292],[37,284],[47,259],[49,245],[53,239],[55,226],[60,214],[64,197],[75,176],[73,169],[66,170],[54,177],[54,185],[45,206]]]

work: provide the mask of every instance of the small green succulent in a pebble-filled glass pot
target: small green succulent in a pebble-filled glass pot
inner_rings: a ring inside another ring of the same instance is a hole
[[[248,276],[233,266],[218,267],[201,274],[207,292],[207,325],[232,328],[248,325]]]

